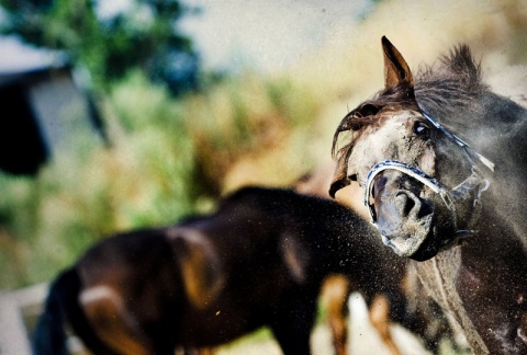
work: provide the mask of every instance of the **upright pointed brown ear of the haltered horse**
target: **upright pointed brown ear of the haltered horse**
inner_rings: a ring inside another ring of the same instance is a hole
[[[382,36],[382,50],[384,51],[384,88],[402,83],[414,88],[414,78],[406,60],[385,36]]]

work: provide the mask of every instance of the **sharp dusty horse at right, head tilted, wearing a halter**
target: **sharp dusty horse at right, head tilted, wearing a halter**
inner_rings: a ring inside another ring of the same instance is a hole
[[[378,238],[475,354],[527,354],[527,111],[491,91],[467,45],[414,79],[381,42],[384,89],[338,125],[329,193],[362,188]]]

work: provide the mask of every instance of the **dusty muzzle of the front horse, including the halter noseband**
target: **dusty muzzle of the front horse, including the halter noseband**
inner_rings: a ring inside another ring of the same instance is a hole
[[[440,196],[440,201],[424,201],[407,190],[383,188],[383,192],[375,197],[377,204],[372,204],[370,199],[375,178],[384,170],[397,170],[403,175],[419,181],[436,196]],[[470,207],[471,219],[474,220],[479,215],[476,210],[481,207],[480,196],[489,184],[489,181],[473,168],[469,178],[449,190],[418,168],[395,160],[386,160],[374,165],[368,173],[363,202],[369,208],[371,222],[379,229],[384,244],[392,248],[400,256],[426,260],[473,233],[470,229],[459,228],[456,205],[460,202],[467,204],[470,196],[474,196]],[[441,208],[444,213],[439,218],[436,211],[439,210],[437,204],[441,204],[441,201],[446,208]],[[440,225],[440,228],[436,225]],[[464,227],[470,227],[469,225],[473,222],[467,222]],[[440,232],[438,232],[439,229]]]

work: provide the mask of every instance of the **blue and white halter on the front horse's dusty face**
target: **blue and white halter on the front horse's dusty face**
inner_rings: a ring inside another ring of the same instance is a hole
[[[371,170],[369,171],[366,182],[365,182],[365,191],[363,191],[363,203],[365,206],[368,207],[369,213],[370,213],[370,218],[371,222],[373,225],[377,225],[377,214],[375,209],[372,204],[370,204],[370,195],[371,195],[371,190],[373,188],[373,181],[375,176],[381,173],[384,170],[397,170],[417,181],[423,183],[424,185],[428,186],[433,192],[436,194],[439,194],[441,197],[442,202],[447,206],[447,208],[451,211],[453,219],[455,219],[455,226],[457,228],[457,214],[456,214],[456,202],[459,199],[462,199],[464,196],[468,195],[469,192],[471,192],[474,188],[478,190],[476,198],[474,199],[474,207],[479,206],[480,204],[480,197],[481,194],[486,191],[490,186],[490,181],[487,179],[484,179],[481,176],[481,173],[479,172],[479,169],[476,164],[474,163],[472,158],[475,158],[479,160],[483,165],[485,165],[487,169],[491,171],[494,171],[494,163],[473,150],[469,144],[463,141],[461,138],[458,136],[451,134],[448,131],[444,126],[441,126],[436,119],[434,119],[426,111],[422,110],[423,116],[434,127],[439,129],[445,134],[447,138],[450,140],[455,141],[460,148],[462,148],[463,153],[467,156],[468,161],[471,164],[471,170],[472,174],[467,178],[463,182],[461,182],[458,186],[455,188],[450,190],[444,184],[441,184],[439,181],[436,179],[427,175],[424,171],[421,169],[406,164],[404,162],[397,161],[397,160],[384,160],[381,161],[380,163],[375,164]],[[457,233],[472,233],[473,231],[470,230],[458,230]]]

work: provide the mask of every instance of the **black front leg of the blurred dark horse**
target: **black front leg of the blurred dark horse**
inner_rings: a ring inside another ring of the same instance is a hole
[[[311,297],[310,297],[311,296]],[[309,355],[316,312],[315,295],[296,295],[283,302],[270,327],[284,355]]]

